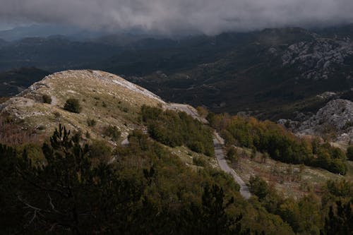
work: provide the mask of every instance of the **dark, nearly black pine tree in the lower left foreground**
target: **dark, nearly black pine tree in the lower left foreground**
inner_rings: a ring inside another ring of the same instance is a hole
[[[126,228],[130,203],[142,193],[138,183],[121,178],[111,165],[92,166],[88,147],[61,126],[42,150],[47,164],[33,165],[26,152],[18,162],[21,233],[115,233]]]

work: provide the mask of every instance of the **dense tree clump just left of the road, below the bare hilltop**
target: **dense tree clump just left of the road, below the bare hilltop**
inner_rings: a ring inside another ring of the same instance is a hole
[[[160,143],[171,147],[186,145],[194,152],[214,155],[212,131],[186,113],[143,106],[141,115],[151,137]]]

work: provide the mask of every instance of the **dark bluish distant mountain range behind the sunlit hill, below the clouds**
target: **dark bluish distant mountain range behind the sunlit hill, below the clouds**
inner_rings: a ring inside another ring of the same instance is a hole
[[[165,100],[204,105],[214,112],[291,118],[293,112],[323,107],[330,100],[318,97],[323,92],[349,93],[352,36],[353,25],[344,25],[227,32],[182,40],[136,35],[85,42],[62,36],[0,40],[0,70],[102,69]]]

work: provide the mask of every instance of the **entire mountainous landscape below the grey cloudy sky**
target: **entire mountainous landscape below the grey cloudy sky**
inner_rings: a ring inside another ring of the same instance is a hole
[[[352,32],[0,40],[0,231],[349,234]]]

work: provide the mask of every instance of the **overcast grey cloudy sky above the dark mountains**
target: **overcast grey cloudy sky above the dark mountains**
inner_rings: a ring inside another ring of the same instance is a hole
[[[353,0],[0,0],[1,25],[59,23],[88,29],[216,34],[353,22]]]

